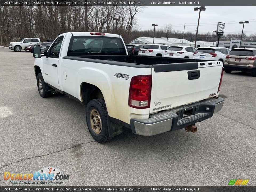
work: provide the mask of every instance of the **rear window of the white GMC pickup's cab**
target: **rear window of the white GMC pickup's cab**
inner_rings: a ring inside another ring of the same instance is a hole
[[[73,36],[67,55],[126,55],[126,49],[120,38]]]

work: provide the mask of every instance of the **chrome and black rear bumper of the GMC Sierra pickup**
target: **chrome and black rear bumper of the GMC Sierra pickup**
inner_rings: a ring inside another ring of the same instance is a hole
[[[133,118],[130,120],[131,130],[138,135],[151,136],[183,129],[212,117],[222,109],[223,104],[223,98],[211,98],[150,115],[149,119]],[[181,118],[185,111],[191,111],[193,115]]]

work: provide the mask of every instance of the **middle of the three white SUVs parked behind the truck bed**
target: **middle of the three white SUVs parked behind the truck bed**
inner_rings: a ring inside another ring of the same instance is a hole
[[[193,59],[193,53],[197,51],[190,46],[170,46],[165,51],[165,57]]]

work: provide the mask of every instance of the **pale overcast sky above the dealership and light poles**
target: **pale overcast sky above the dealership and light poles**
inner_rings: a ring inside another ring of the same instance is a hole
[[[173,30],[196,32],[199,11],[194,11],[196,6],[147,6],[142,13],[138,13],[138,28],[153,29],[152,24],[158,24],[157,28],[165,24],[171,24]],[[201,11],[198,33],[212,32],[217,29],[217,23],[226,23],[225,33],[241,33],[243,24],[239,21],[249,21],[245,24],[244,33],[247,35],[256,33],[256,6],[205,6]]]

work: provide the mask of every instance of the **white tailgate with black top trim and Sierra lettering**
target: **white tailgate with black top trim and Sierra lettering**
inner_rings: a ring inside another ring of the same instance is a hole
[[[216,97],[221,61],[151,65],[150,113]]]

